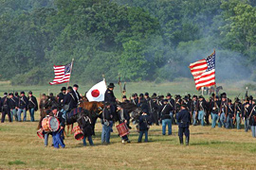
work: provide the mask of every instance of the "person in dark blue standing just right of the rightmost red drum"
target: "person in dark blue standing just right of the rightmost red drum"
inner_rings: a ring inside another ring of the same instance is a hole
[[[142,136],[145,134],[145,140],[144,142],[148,142],[148,130],[150,125],[150,117],[148,116],[146,110],[142,111],[142,114],[139,116],[139,122],[138,122],[138,130],[139,130],[139,136],[137,139],[138,143],[141,143]]]

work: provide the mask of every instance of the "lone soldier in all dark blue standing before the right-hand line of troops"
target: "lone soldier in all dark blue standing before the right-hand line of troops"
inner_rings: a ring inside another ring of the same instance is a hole
[[[186,136],[186,145],[190,143],[190,122],[191,114],[186,110],[186,105],[181,105],[181,110],[177,113],[176,119],[178,124],[179,143],[183,144],[183,133]]]

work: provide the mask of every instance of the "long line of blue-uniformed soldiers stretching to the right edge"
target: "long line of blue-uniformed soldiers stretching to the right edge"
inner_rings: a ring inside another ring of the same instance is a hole
[[[232,102],[227,97],[227,93],[221,93],[220,96],[212,93],[209,99],[205,99],[202,95],[191,94],[185,95],[183,98],[176,94],[173,98],[171,93],[167,93],[166,97],[157,96],[156,93],[153,93],[152,97],[149,97],[149,93],[140,93],[138,96],[137,93],[134,93],[130,100],[124,95],[123,101],[134,103],[142,110],[146,109],[155,125],[162,124],[163,135],[165,135],[166,125],[171,125],[168,134],[172,134],[172,124],[176,124],[175,116],[180,111],[181,105],[185,105],[191,113],[191,125],[193,126],[210,125],[211,117],[211,127],[215,127],[217,124],[218,127],[240,129],[242,121],[244,121],[245,131],[251,129],[253,137],[256,135],[255,129],[253,129],[256,125],[256,100],[251,95],[243,101],[236,97]]]

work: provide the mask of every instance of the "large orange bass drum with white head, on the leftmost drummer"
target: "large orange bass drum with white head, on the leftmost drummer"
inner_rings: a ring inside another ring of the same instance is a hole
[[[46,116],[42,121],[42,127],[46,132],[54,132],[60,128],[60,122],[56,117]]]

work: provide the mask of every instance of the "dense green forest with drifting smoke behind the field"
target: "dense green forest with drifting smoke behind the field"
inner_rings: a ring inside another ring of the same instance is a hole
[[[255,0],[0,0],[0,79],[46,84],[191,77],[216,49],[217,80],[256,80]]]

